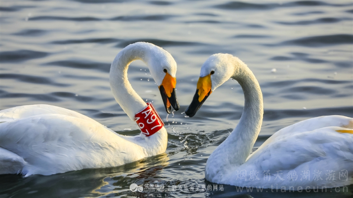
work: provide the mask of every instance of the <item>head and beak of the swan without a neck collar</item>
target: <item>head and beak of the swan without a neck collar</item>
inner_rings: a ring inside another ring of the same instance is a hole
[[[230,54],[214,54],[202,65],[196,93],[185,114],[193,117],[207,97],[235,74],[237,66],[244,63]]]

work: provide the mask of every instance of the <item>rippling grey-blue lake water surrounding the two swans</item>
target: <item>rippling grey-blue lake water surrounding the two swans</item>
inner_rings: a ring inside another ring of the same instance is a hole
[[[260,82],[265,115],[254,150],[298,121],[332,114],[353,117],[352,1],[2,0],[0,11],[0,109],[51,104],[118,133],[136,135],[137,125],[110,92],[108,72],[115,55],[137,41],[154,43],[173,55],[180,104],[173,120],[166,122],[165,154],[115,168],[27,178],[1,175],[2,198],[352,195],[352,187],[340,195],[241,193],[226,185],[224,191],[129,190],[131,183],[165,185],[167,190],[172,185],[214,185],[204,179],[205,163],[239,122],[243,92],[228,80],[195,117],[181,114],[195,92],[200,66],[214,53],[239,57]],[[159,90],[145,69],[140,61],[132,63],[129,80],[166,118]]]

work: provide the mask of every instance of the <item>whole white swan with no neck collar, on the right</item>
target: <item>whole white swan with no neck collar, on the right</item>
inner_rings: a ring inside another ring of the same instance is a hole
[[[239,124],[209,156],[206,180],[240,187],[300,191],[353,183],[353,119],[322,116],[274,133],[251,149],[263,121],[263,96],[253,72],[229,54],[212,55],[201,67],[192,117],[209,94],[229,78],[242,86],[245,107]]]

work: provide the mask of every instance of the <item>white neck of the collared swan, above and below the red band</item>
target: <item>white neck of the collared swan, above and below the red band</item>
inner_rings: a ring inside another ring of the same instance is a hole
[[[147,104],[132,88],[127,78],[127,69],[130,63],[135,60],[141,60],[150,67],[148,64],[151,56],[150,51],[154,47],[156,46],[148,43],[135,43],[129,45],[116,55],[110,67],[109,81],[114,98],[134,122],[135,114],[146,108]],[[147,153],[156,154],[166,150],[168,135],[164,127],[149,137],[142,134],[140,136],[143,141],[136,141],[135,143],[145,145],[145,147],[147,147]]]

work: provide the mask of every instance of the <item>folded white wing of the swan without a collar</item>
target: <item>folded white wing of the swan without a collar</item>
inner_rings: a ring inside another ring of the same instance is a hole
[[[327,188],[345,186],[353,183],[353,134],[352,130],[340,127],[326,127],[311,132],[301,132],[276,141],[271,141],[259,148],[238,170],[248,173],[257,171],[264,176],[270,173],[272,180],[276,174],[284,179],[265,183],[261,177],[251,184],[282,184],[283,186],[321,185]],[[288,174],[296,173],[297,180],[288,181]],[[320,171],[322,180],[313,178]],[[336,180],[325,180],[330,171],[335,171]],[[348,177],[338,180],[339,172],[347,171]],[[311,180],[302,181],[303,174],[309,173]],[[233,175],[233,178],[235,176]],[[234,179],[233,179],[234,180]],[[250,182],[250,181],[248,181]],[[279,183],[278,183],[279,182]],[[250,183],[249,183],[250,184]],[[239,184],[238,184],[239,185]],[[246,184],[242,184],[245,185]],[[270,188],[270,186],[267,186]]]

